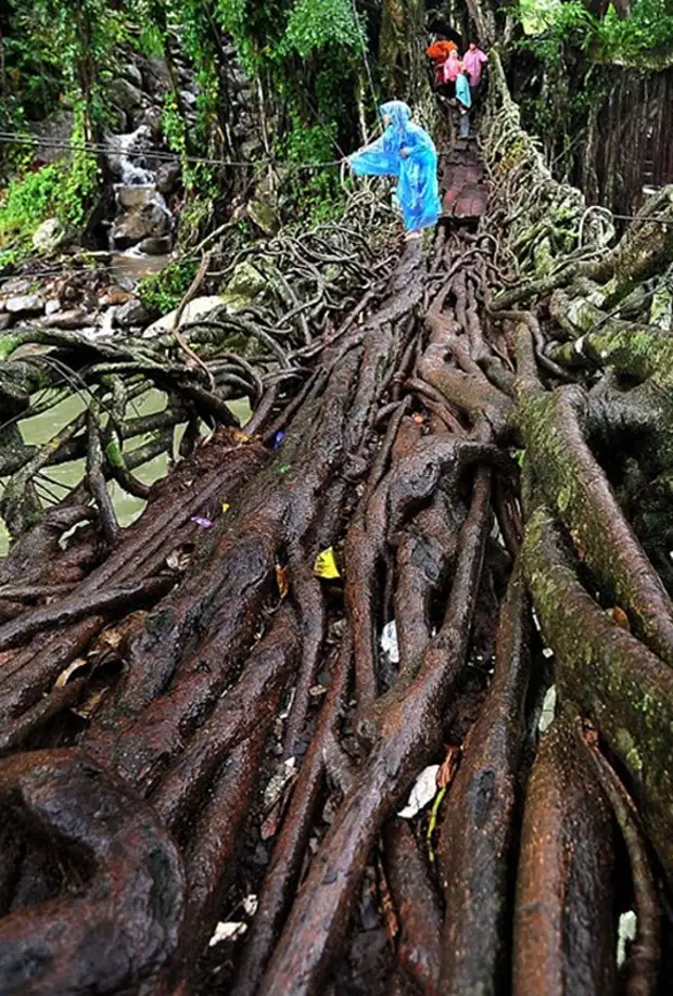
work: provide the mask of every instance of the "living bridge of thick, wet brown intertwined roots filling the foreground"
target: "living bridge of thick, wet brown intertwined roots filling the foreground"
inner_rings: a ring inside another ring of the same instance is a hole
[[[600,231],[579,244],[581,195],[507,98],[484,230],[407,244],[128,531],[93,488],[22,531],[0,591],[3,993],[662,992],[668,336],[651,295],[612,315],[642,240],[609,267]],[[432,803],[399,816],[430,765]]]

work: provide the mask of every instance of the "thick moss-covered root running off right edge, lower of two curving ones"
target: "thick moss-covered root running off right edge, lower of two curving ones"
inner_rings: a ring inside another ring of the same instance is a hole
[[[596,722],[631,775],[673,883],[673,672],[591,598],[544,505],[531,512],[522,563],[561,693]]]

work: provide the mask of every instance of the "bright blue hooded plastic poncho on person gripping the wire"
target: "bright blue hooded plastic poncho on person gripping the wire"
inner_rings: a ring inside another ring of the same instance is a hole
[[[401,100],[379,108],[391,124],[380,139],[348,156],[356,176],[397,177],[397,200],[407,231],[431,228],[440,216],[437,152],[427,131],[411,122],[411,111]],[[402,151],[406,150],[406,157]]]

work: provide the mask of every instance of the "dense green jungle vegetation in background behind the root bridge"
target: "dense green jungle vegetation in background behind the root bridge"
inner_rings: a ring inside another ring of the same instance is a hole
[[[380,99],[420,99],[428,29],[453,27],[467,37],[470,16],[482,43],[504,51],[524,123],[555,171],[579,182],[589,200],[632,209],[651,149],[660,149],[661,168],[671,166],[668,0],[9,0],[0,13],[2,258],[25,250],[46,217],[80,232],[96,220],[110,177],[87,146],[114,132],[118,105],[110,84],[135,53],[164,58],[168,67],[161,133],[183,159],[191,238],[227,218],[233,197],[254,186],[255,167],[190,164],[190,155],[272,162],[285,171],[289,216],[297,205],[329,213],[340,195],[338,171],[288,170],[339,161],[377,128]],[[193,108],[180,93],[176,58],[193,71]],[[238,80],[232,61],[243,74]],[[255,111],[247,128],[232,104],[241,86],[250,86]],[[25,140],[64,112],[72,115],[64,133],[73,151],[40,167]]]

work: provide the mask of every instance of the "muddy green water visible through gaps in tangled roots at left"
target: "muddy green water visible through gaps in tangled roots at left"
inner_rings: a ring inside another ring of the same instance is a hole
[[[72,422],[72,420],[75,419],[84,410],[84,398],[74,396],[62,401],[60,405],[56,405],[54,408],[51,408],[43,414],[35,416],[35,418],[31,419],[24,419],[20,423],[20,430],[24,443],[31,446],[39,446],[40,444],[48,443],[56,432],[63,429],[64,425],[67,425],[68,422]],[[148,391],[147,394],[143,394],[140,398],[132,403],[132,412],[129,413],[132,413],[134,416],[154,414],[155,412],[163,411],[165,408],[166,395],[161,391]],[[242,425],[250,418],[250,405],[246,400],[231,401],[229,408],[239,418]],[[178,452],[178,447],[183,432],[185,425],[176,425],[173,442],[174,455],[177,455]],[[205,430],[204,434],[206,434]],[[142,446],[144,443],[147,443],[150,438],[150,436],[145,435],[135,436],[132,439],[126,439],[124,443],[124,451],[131,452],[134,449],[137,449],[139,446]],[[47,474],[52,478],[52,481],[59,482],[62,485],[66,485],[67,488],[72,488],[76,484],[79,484],[81,481],[84,469],[84,459],[73,460],[69,463],[62,463],[59,467],[48,468]],[[154,460],[150,460],[147,463],[143,463],[141,467],[135,470],[134,473],[144,484],[153,484],[154,481],[157,481],[160,477],[164,477],[167,471],[168,455],[162,454],[161,456],[155,457]],[[61,498],[66,494],[63,487],[59,487],[59,484],[49,484],[48,486],[55,497]],[[2,494],[3,487],[4,478],[0,478],[0,495]],[[115,481],[111,482],[107,485],[107,488],[110,490],[119,524],[123,526],[129,525],[140,515],[145,507],[145,502],[141,498],[134,498],[132,495],[127,495],[126,491],[119,488]],[[7,554],[9,544],[10,537],[7,531],[7,526],[3,520],[0,519],[0,557],[4,557]]]

